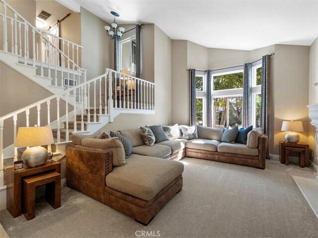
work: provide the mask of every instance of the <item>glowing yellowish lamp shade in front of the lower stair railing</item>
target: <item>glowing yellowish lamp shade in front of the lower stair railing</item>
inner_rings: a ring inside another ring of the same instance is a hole
[[[51,127],[19,127],[16,147],[43,146],[54,143]]]

